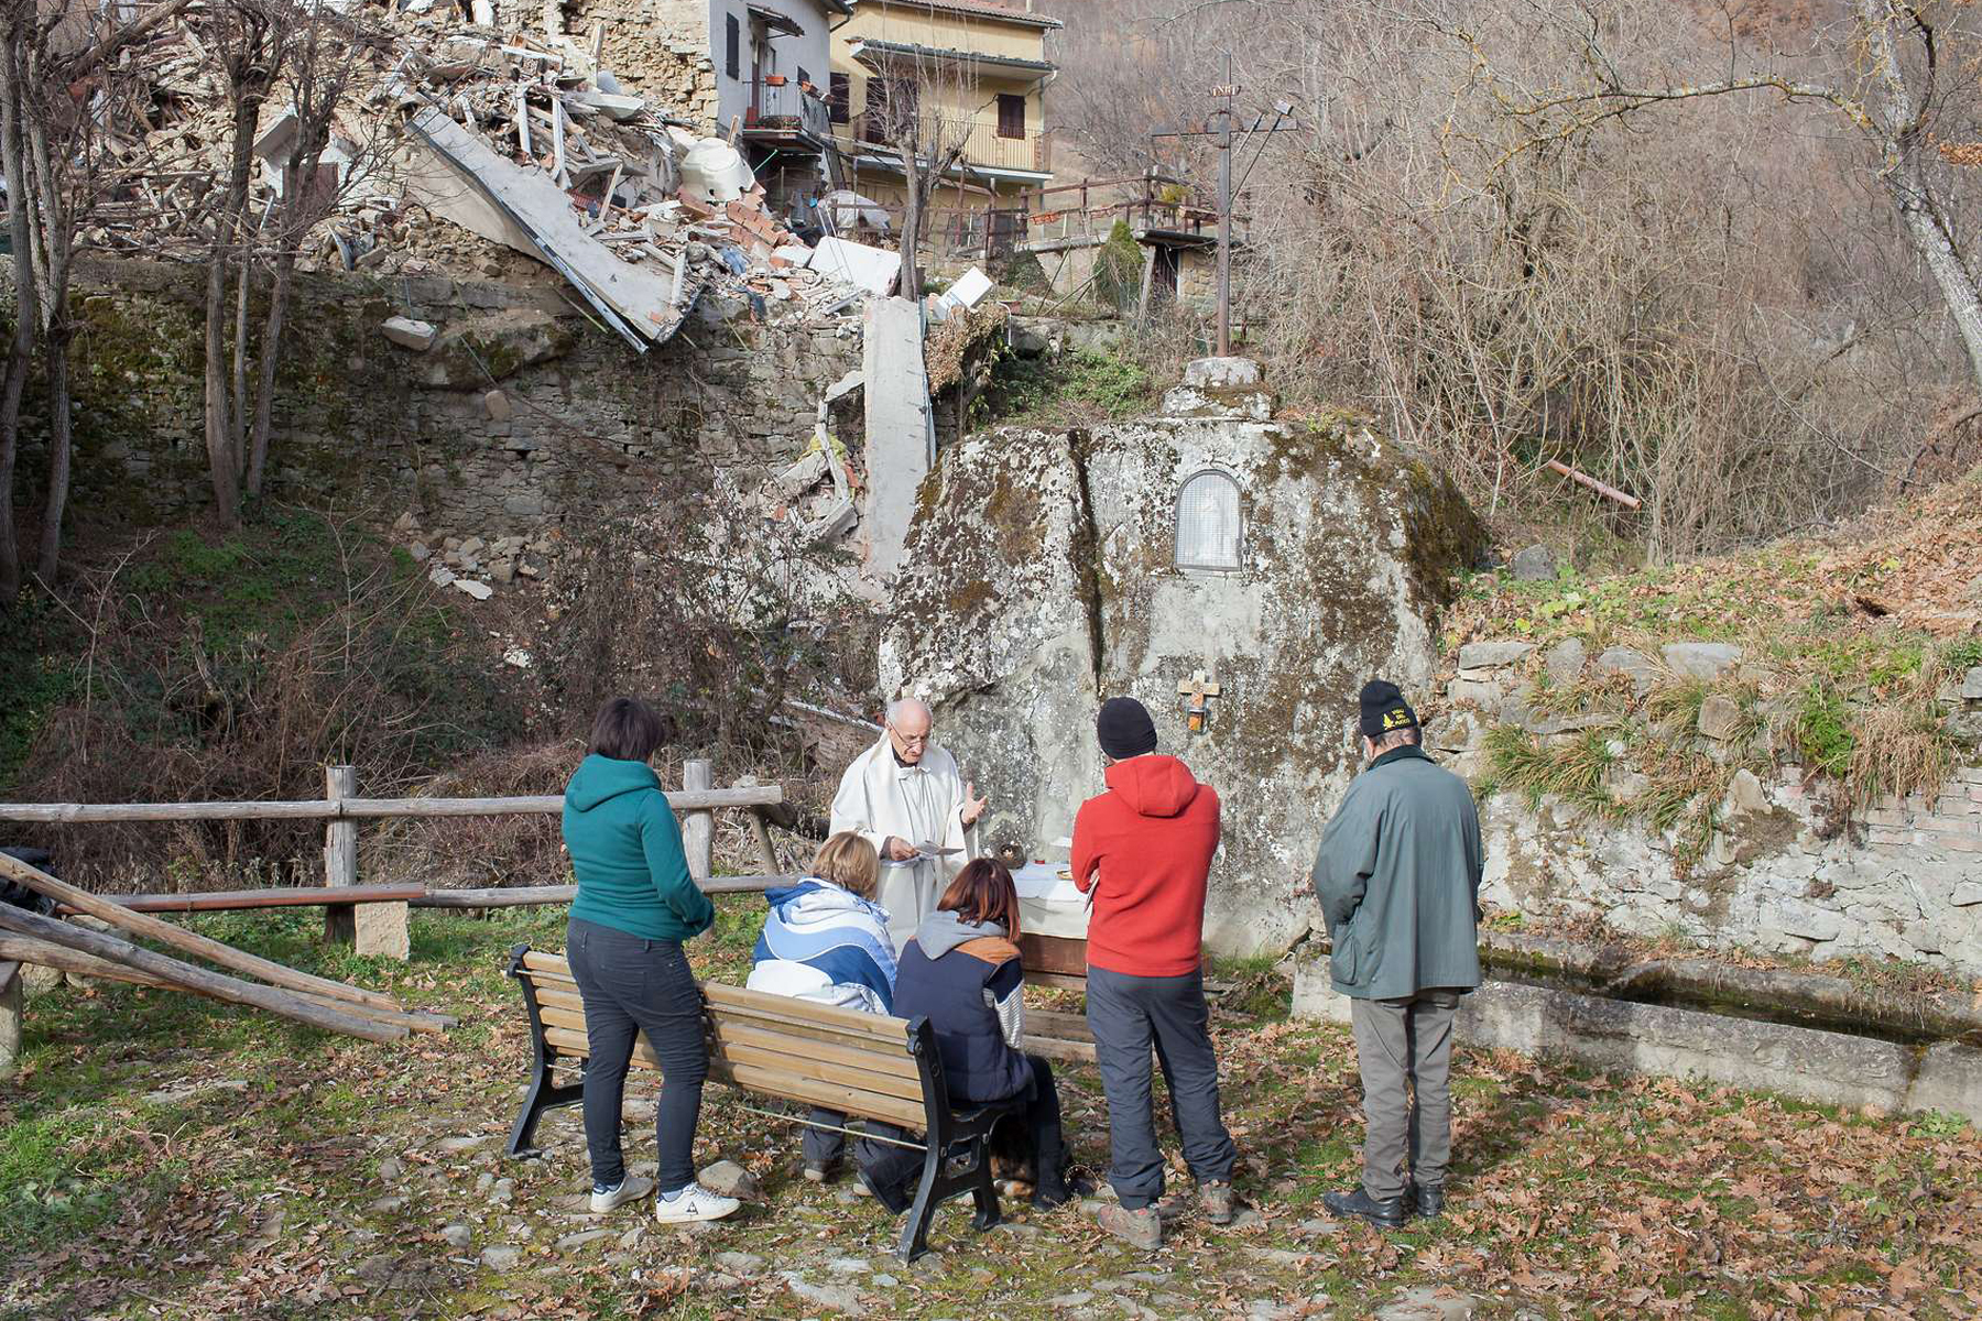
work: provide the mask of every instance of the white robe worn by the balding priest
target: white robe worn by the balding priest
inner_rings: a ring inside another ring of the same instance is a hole
[[[943,887],[977,852],[977,830],[963,826],[963,778],[947,749],[930,745],[922,761],[904,766],[884,733],[880,743],[854,759],[832,796],[832,834],[854,830],[880,858],[880,893],[888,909],[888,935],[900,951],[922,919],[936,911]],[[892,862],[888,836],[910,846],[955,850],[947,858]]]

